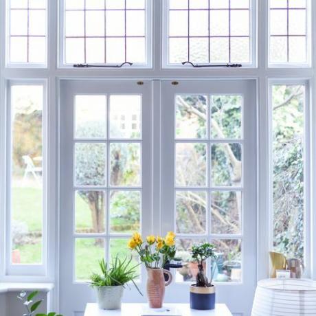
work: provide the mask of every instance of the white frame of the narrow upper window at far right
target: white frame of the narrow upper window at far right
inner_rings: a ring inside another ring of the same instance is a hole
[[[312,16],[314,16],[313,12],[313,5],[311,3],[312,0],[306,0],[306,63],[291,63],[291,62],[284,62],[284,63],[273,63],[270,61],[270,3],[271,0],[268,0],[268,14],[267,14],[267,60],[269,68],[310,68],[312,67],[312,43],[313,43],[313,20]],[[315,18],[314,18],[315,19]],[[315,33],[315,29],[313,29]]]

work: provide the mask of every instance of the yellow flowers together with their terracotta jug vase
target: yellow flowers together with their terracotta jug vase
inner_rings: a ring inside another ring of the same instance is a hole
[[[172,274],[163,267],[175,256],[174,239],[175,234],[168,232],[165,238],[150,235],[144,242],[142,236],[135,233],[128,242],[128,247],[137,251],[141,262],[146,266],[148,273],[147,297],[150,308],[162,307],[165,287],[172,282]],[[164,274],[168,275],[167,281],[165,281]]]

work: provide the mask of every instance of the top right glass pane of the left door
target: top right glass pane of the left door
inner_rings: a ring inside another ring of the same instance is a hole
[[[142,95],[110,96],[110,137],[142,137]]]

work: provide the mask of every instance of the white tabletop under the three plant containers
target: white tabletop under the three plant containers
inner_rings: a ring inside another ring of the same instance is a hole
[[[122,304],[121,310],[104,311],[98,308],[98,304],[87,304],[84,316],[140,316],[141,312],[147,304]],[[182,316],[232,316],[225,304],[216,304],[216,308],[212,311],[197,311],[190,308],[189,304],[163,304],[163,307],[177,307]]]

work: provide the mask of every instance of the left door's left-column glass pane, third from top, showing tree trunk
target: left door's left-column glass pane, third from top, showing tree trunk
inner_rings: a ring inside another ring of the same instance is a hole
[[[105,194],[103,191],[76,191],[76,233],[104,233],[105,207]]]

